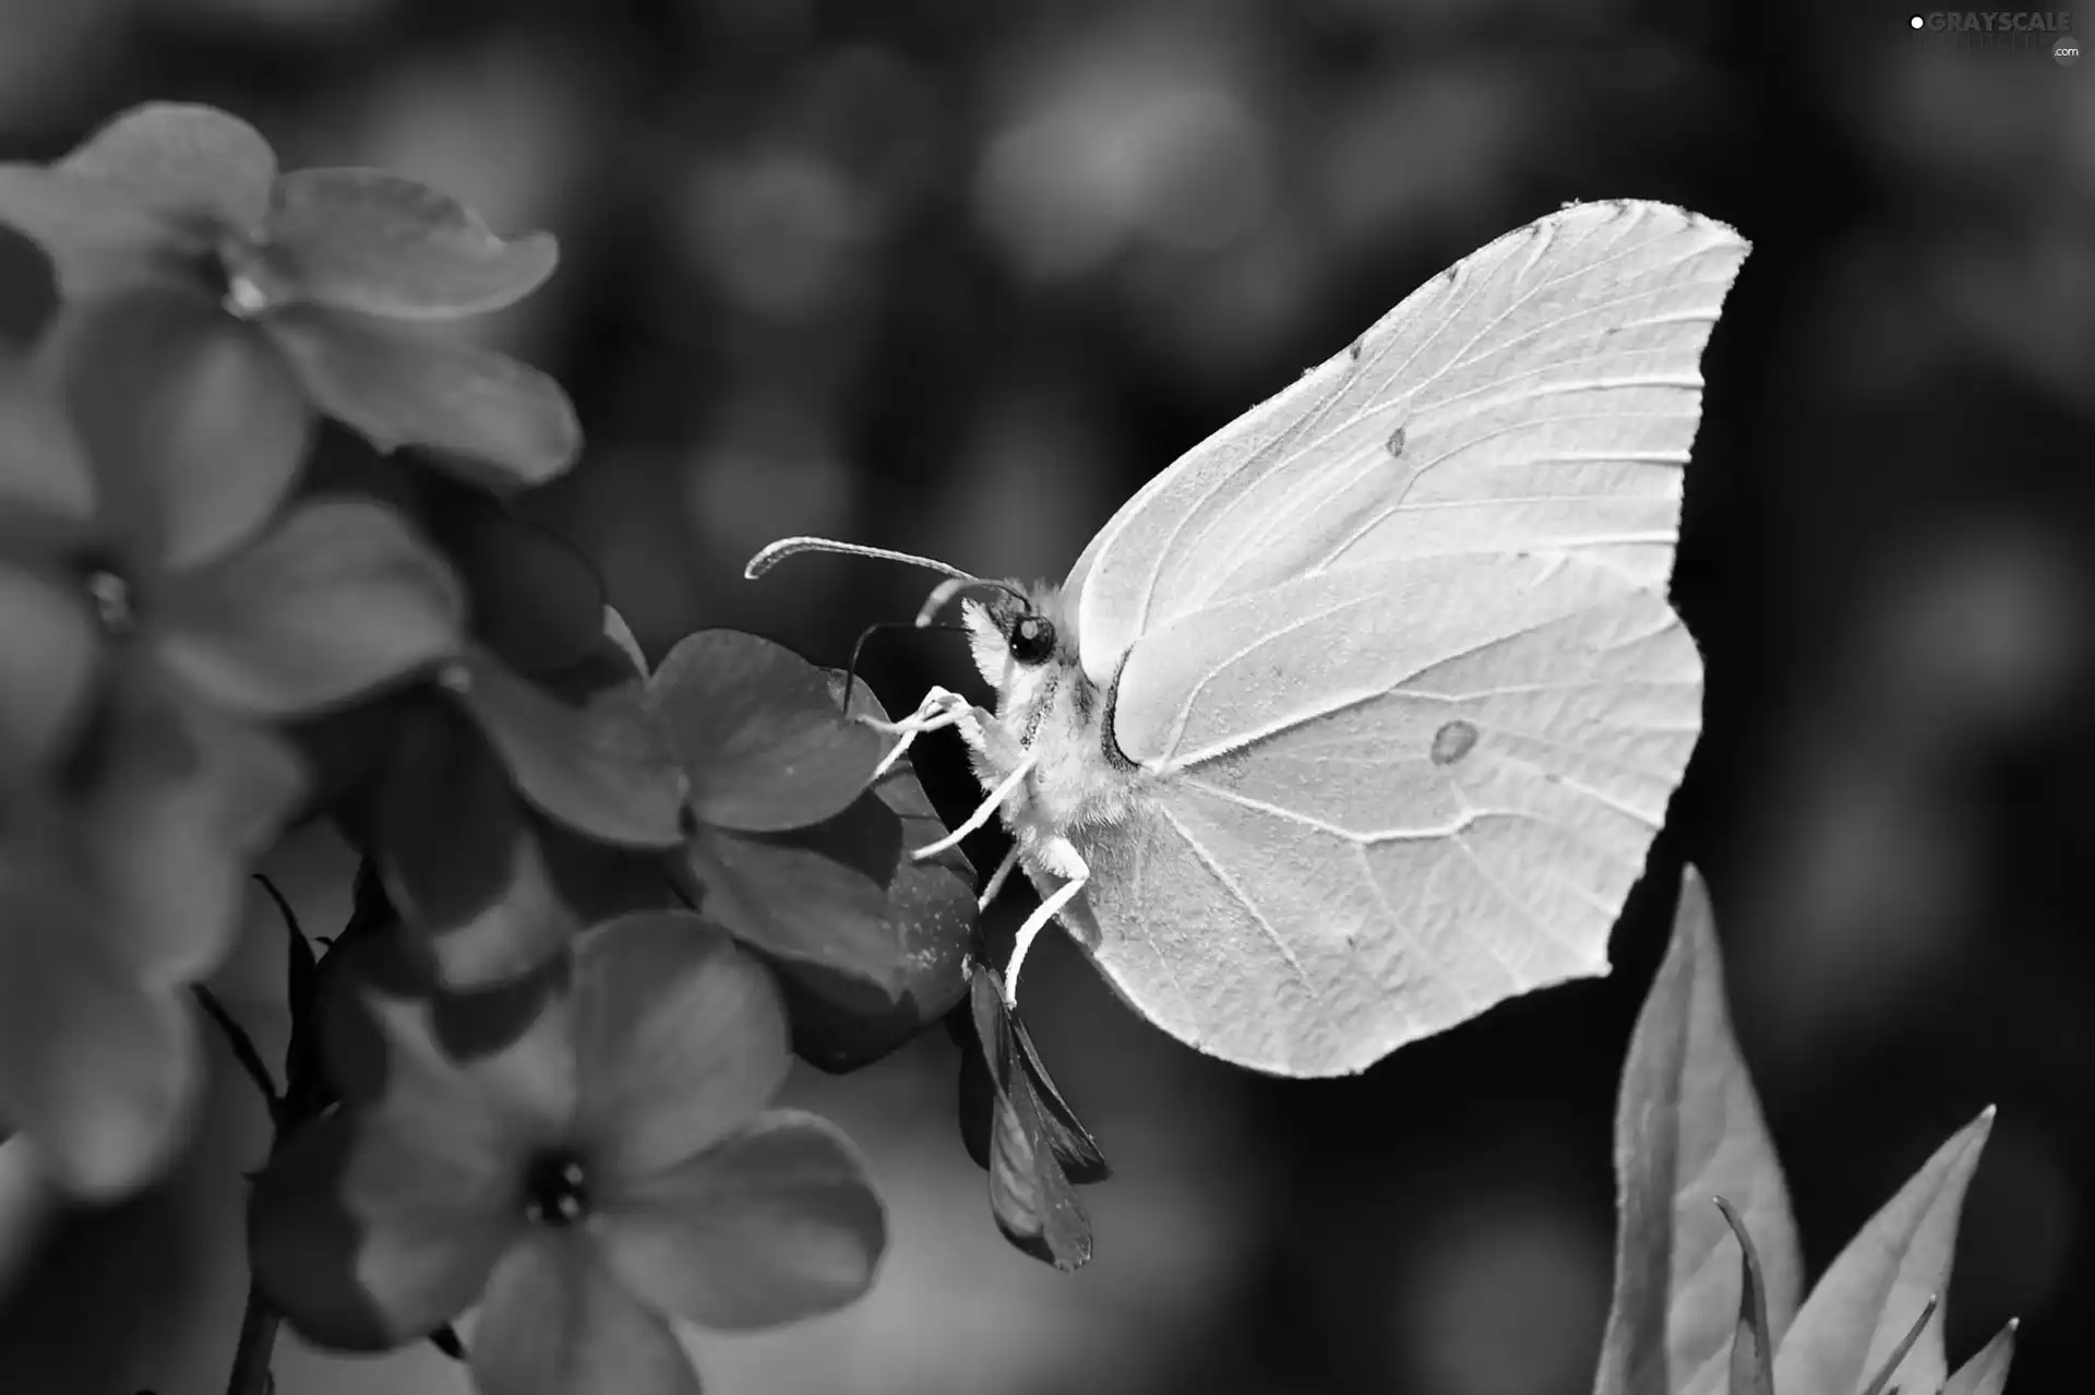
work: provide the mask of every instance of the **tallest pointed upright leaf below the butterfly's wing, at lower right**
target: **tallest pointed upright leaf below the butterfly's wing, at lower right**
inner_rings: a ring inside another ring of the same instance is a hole
[[[1615,1181],[1615,1301],[1594,1389],[1720,1395],[1739,1290],[1710,1196],[1735,1204],[1760,1238],[1772,1343],[1795,1313],[1802,1261],[1783,1171],[1730,1035],[1710,892],[1693,867],[1622,1070]]]

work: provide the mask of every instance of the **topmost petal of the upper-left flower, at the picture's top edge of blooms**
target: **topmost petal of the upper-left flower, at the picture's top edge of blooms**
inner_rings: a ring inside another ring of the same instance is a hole
[[[268,214],[277,153],[262,132],[216,107],[147,103],[107,121],[57,168],[186,224],[247,230]]]

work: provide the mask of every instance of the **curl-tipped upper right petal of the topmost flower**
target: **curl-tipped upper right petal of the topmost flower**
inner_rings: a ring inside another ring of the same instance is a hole
[[[549,233],[503,241],[480,214],[383,170],[293,170],[277,182],[266,256],[285,291],[394,318],[515,304],[559,262]]]

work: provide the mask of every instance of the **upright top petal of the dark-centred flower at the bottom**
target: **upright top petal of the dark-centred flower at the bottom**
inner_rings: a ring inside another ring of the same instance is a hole
[[[760,964],[689,911],[620,915],[576,945],[580,1129],[618,1177],[681,1162],[786,1083],[786,1012]]]

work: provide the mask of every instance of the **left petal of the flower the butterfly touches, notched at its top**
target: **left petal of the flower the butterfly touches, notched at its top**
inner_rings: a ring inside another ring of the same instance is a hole
[[[683,842],[683,771],[639,683],[572,704],[473,647],[444,687],[488,733],[517,790],[578,834],[624,846]]]

